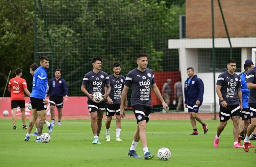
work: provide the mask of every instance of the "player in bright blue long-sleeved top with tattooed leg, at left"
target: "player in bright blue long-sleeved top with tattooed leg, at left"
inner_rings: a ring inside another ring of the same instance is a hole
[[[30,96],[32,106],[32,117],[29,122],[29,126],[33,127],[34,122],[39,116],[39,123],[37,126],[37,142],[41,142],[40,136],[42,135],[44,121],[46,120],[46,105],[48,100],[46,98],[47,90],[47,69],[49,69],[49,59],[46,56],[40,57],[40,67],[36,69],[33,76],[33,90]],[[30,134],[26,134],[25,141],[28,141]]]

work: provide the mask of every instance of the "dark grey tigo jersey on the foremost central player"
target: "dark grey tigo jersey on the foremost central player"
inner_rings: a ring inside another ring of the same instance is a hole
[[[151,69],[146,69],[144,72],[133,69],[126,78],[126,86],[132,88],[131,104],[151,106],[151,85],[155,84],[154,72]]]

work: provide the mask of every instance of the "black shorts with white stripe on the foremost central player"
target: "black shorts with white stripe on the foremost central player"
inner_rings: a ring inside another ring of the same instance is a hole
[[[135,114],[137,124],[140,121],[146,120],[149,121],[149,116],[151,113],[151,107],[145,105],[134,105],[132,106],[133,113]]]

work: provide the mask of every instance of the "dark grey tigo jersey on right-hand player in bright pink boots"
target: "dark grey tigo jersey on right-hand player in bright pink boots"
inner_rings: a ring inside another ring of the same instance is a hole
[[[239,75],[235,73],[230,75],[228,71],[226,71],[219,75],[216,84],[221,86],[221,95],[223,100],[227,102],[227,105],[239,104],[239,98],[237,95],[237,89],[241,88],[241,79]],[[220,100],[219,105],[221,105]]]

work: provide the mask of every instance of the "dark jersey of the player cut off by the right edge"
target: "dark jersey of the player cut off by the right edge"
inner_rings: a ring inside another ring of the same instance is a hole
[[[245,80],[246,83],[256,84],[256,66],[246,73]],[[256,103],[256,89],[250,89],[248,103]]]

